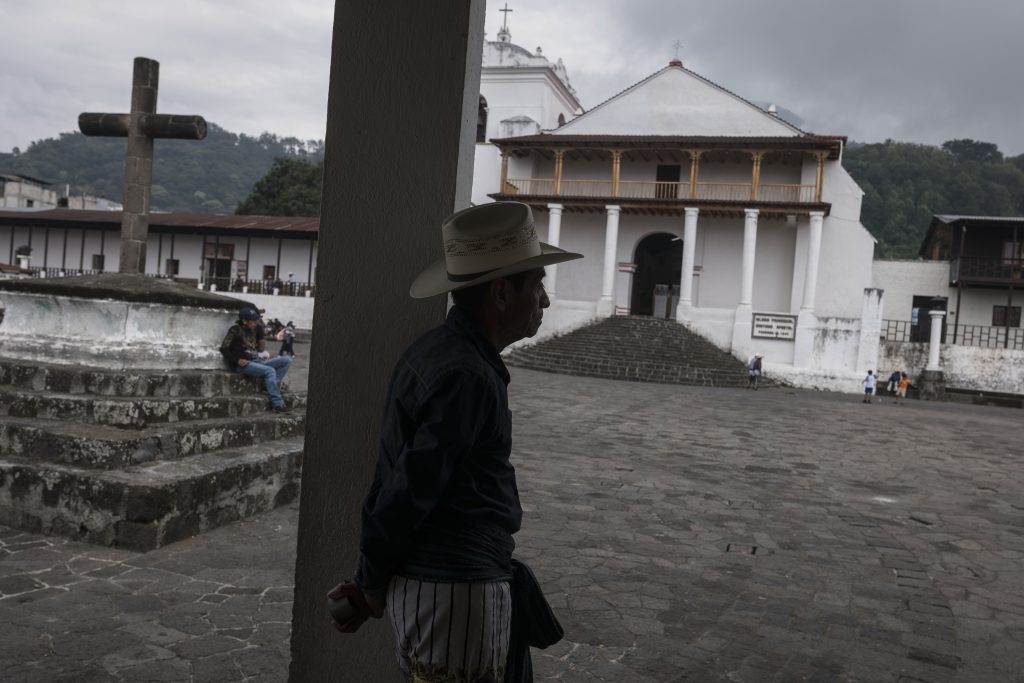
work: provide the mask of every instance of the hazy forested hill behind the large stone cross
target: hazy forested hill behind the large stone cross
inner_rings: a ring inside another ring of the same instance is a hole
[[[28,150],[0,153],[0,172],[52,182],[72,194],[121,201],[124,138],[61,133]],[[263,133],[237,135],[209,124],[204,140],[157,140],[152,207],[157,211],[233,213],[236,206],[279,157],[318,161],[323,140],[299,140]]]

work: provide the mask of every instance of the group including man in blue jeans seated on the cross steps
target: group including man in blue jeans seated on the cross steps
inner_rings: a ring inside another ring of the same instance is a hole
[[[263,383],[270,395],[271,411],[287,413],[288,407],[281,392],[281,384],[295,358],[295,325],[289,321],[288,325],[282,326],[278,318],[273,318],[280,326],[275,336],[282,344],[278,355],[270,357],[270,352],[266,350],[266,337],[269,336],[270,327],[263,323],[262,312],[248,307],[239,311],[238,322],[227,330],[220,343],[220,354],[224,356],[229,369]]]

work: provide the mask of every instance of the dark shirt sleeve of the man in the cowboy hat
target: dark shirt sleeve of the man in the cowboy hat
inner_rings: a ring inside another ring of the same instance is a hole
[[[388,411],[397,410],[395,400],[391,398]],[[412,438],[397,453],[388,453],[382,442],[362,506],[355,577],[360,589],[378,592],[387,587],[416,531],[440,502],[453,472],[476,443],[495,402],[494,389],[484,378],[471,372],[451,373],[420,401]]]

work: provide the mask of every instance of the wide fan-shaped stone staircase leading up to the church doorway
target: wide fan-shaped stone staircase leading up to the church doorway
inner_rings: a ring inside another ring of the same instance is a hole
[[[515,349],[509,366],[634,382],[745,387],[746,369],[675,321],[615,315]]]

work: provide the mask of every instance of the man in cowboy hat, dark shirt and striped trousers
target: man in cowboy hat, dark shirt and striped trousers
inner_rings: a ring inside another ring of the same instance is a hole
[[[441,233],[444,257],[410,294],[455,306],[395,368],[355,583],[331,596],[355,608],[345,632],[386,609],[411,680],[502,680],[522,508],[500,352],[541,327],[544,266],[582,256],[541,243],[516,202],[460,211]]]

